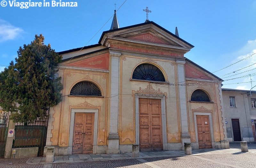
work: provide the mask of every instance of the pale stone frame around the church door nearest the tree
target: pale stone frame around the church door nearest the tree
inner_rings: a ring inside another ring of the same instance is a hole
[[[69,141],[68,141],[68,155],[72,154],[73,148],[73,135],[74,135],[74,122],[75,113],[94,113],[94,128],[93,128],[93,150],[92,153],[97,153],[97,137],[98,137],[98,115],[99,109],[71,109],[70,127],[69,127]]]

